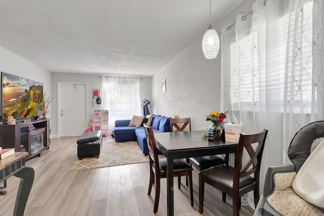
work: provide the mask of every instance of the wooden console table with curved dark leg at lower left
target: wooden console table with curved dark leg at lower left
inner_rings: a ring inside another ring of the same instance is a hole
[[[25,159],[28,152],[16,152],[15,154],[0,160],[0,191],[7,187],[7,179],[11,176],[20,178],[20,184],[17,192],[16,203],[14,207],[14,216],[24,215],[25,207],[29,197],[32,183],[34,181],[34,169],[26,167]]]

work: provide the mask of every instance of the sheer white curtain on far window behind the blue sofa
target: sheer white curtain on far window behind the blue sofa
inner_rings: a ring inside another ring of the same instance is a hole
[[[109,111],[109,131],[115,120],[131,119],[141,113],[138,77],[103,77],[101,96],[101,108]]]

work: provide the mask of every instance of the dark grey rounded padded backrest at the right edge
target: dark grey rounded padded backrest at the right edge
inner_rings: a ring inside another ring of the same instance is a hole
[[[295,134],[288,148],[288,157],[297,172],[308,158],[313,141],[320,137],[324,137],[324,121],[307,124]]]

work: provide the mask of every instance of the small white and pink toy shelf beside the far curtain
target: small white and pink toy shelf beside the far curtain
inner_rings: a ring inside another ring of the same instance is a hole
[[[102,136],[108,135],[108,110],[95,110],[90,120],[93,131],[101,131]]]

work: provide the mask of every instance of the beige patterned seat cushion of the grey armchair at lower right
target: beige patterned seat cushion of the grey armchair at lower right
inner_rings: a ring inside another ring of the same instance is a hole
[[[296,172],[276,173],[274,175],[274,192],[266,202],[280,215],[324,215],[324,211],[306,202],[292,188]]]

